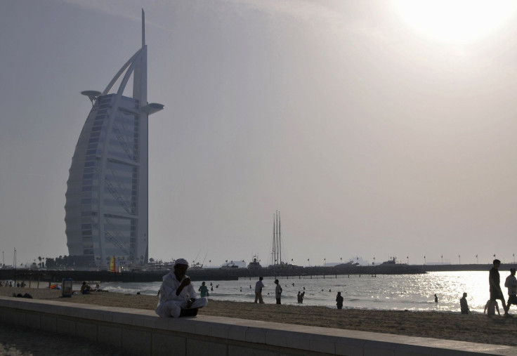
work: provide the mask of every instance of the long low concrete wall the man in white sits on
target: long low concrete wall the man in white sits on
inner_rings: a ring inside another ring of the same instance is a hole
[[[0,322],[19,324],[134,355],[517,355],[517,348],[152,310],[0,297]]]

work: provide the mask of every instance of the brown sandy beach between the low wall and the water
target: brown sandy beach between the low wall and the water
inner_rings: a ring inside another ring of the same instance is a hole
[[[1,296],[29,293],[33,298],[122,308],[155,310],[157,296],[94,292],[61,298],[61,291],[51,289],[0,288]],[[517,309],[513,306],[513,312]],[[510,310],[512,312],[512,310]],[[214,301],[199,315],[235,317],[301,324],[313,327],[332,327],[373,331],[386,334],[443,338],[476,343],[517,345],[516,317],[488,317],[482,314],[461,315],[459,312],[409,312],[389,310],[337,310],[307,305],[275,305]]]

